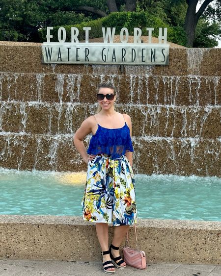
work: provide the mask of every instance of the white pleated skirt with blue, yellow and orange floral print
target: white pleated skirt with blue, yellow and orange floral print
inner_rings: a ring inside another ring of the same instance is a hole
[[[134,174],[125,155],[96,155],[88,162],[82,205],[85,221],[113,226],[136,222]]]

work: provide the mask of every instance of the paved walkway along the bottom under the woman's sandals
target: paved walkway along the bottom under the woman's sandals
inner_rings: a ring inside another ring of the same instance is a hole
[[[0,276],[105,276],[101,262],[0,260]],[[119,276],[221,276],[221,265],[151,264],[116,269]]]

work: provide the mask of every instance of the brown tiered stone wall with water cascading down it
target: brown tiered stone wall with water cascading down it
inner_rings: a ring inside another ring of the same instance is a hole
[[[171,48],[169,66],[50,65],[40,44],[4,42],[0,60],[1,167],[85,170],[73,136],[110,79],[136,173],[221,176],[221,49]]]

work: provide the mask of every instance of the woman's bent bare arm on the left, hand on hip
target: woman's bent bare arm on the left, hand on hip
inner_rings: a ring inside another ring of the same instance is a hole
[[[91,133],[92,120],[91,118],[87,118],[83,121],[82,125],[75,132],[74,135],[74,145],[77,151],[81,154],[83,161],[88,163],[89,155],[86,152],[85,146],[83,144],[83,139],[87,136],[87,134]]]

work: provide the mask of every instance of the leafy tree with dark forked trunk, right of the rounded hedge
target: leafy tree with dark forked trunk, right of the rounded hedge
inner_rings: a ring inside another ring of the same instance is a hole
[[[139,0],[137,9],[148,10],[169,25],[184,28],[187,47],[214,47],[221,35],[221,0]]]

